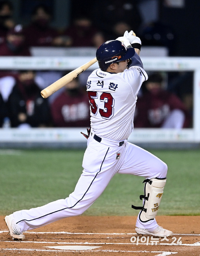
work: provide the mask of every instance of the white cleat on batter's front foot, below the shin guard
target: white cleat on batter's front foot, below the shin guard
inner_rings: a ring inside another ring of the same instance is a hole
[[[172,231],[164,229],[160,226],[158,226],[154,230],[152,230],[152,228],[145,229],[145,228],[136,227],[136,233],[138,235],[149,235],[149,236],[156,236],[156,237],[169,237],[173,235]]]

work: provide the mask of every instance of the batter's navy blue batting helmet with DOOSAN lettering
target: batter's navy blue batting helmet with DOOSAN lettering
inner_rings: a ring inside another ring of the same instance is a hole
[[[96,57],[100,69],[106,71],[110,64],[130,59],[134,54],[134,48],[126,48],[122,42],[110,40],[99,46]]]

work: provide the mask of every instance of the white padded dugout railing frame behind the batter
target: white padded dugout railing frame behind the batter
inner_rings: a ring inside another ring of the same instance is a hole
[[[0,57],[0,69],[72,70],[93,57]],[[134,129],[129,141],[138,145],[166,147],[200,144],[200,58],[142,57],[147,71],[193,72],[193,127],[191,129]],[[88,70],[98,67],[93,64]],[[83,128],[0,129],[0,147],[85,147]]]

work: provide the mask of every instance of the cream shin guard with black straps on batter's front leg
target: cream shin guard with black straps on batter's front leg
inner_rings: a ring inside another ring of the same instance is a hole
[[[166,180],[167,178],[152,178],[143,181],[143,183],[146,182],[144,185],[144,195],[140,196],[140,199],[143,199],[143,207],[132,205],[133,209],[141,210],[139,214],[141,222],[147,222],[156,217]]]

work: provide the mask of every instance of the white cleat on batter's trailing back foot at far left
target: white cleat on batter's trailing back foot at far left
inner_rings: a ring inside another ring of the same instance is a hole
[[[20,227],[16,224],[16,221],[14,220],[13,214],[8,215],[5,217],[6,225],[9,229],[9,234],[12,237],[13,240],[24,240],[25,236],[23,235]]]

